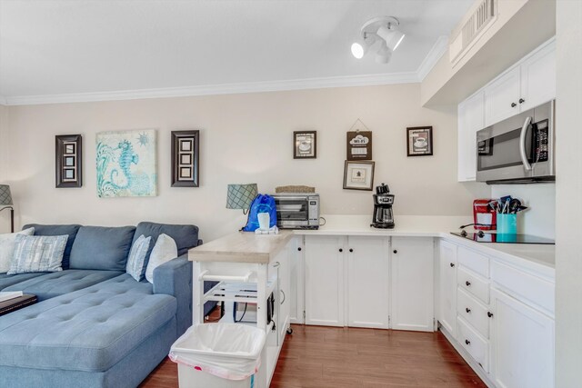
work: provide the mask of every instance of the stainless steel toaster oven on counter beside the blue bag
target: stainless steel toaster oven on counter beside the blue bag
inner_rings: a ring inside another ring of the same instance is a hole
[[[318,229],[319,194],[273,194],[276,225],[281,229]]]

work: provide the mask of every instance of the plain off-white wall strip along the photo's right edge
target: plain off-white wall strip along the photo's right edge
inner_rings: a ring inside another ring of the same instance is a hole
[[[556,386],[582,362],[582,2],[557,1]]]

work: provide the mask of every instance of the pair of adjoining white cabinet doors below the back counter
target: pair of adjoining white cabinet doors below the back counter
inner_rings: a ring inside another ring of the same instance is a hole
[[[305,237],[306,324],[389,327],[388,237]]]

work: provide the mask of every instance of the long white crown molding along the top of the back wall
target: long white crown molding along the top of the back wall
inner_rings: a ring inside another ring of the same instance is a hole
[[[245,93],[278,92],[290,90],[321,89],[330,87],[393,85],[417,83],[416,72],[306,78],[274,82],[243,84],[203,85],[168,87],[159,89],[126,90],[117,92],[79,93],[67,95],[23,95],[6,97],[8,105],[88,103],[97,101],[120,101],[143,98],[168,98],[196,95],[236,95]]]

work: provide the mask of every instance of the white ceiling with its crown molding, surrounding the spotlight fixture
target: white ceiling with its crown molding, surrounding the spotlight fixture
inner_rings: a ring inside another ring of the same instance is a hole
[[[35,104],[417,81],[472,3],[0,0],[0,96]],[[406,33],[388,65],[349,49],[378,15]]]

